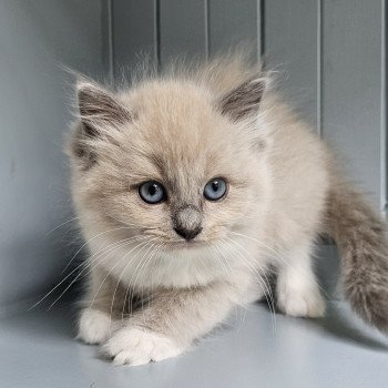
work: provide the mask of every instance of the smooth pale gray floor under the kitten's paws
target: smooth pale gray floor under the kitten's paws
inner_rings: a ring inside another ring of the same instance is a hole
[[[113,367],[73,337],[62,305],[0,321],[1,388],[388,387],[388,338],[333,303],[328,317],[276,315],[263,304],[236,310],[190,354],[143,367]]]

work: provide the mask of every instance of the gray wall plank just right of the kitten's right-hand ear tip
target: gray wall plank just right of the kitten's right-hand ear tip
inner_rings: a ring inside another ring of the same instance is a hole
[[[264,8],[265,63],[282,94],[319,131],[319,0],[270,0]]]

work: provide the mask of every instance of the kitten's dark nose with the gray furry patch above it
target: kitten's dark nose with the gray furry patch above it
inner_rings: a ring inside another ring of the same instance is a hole
[[[186,241],[193,239],[202,231],[202,214],[194,205],[183,205],[173,215],[174,231]]]

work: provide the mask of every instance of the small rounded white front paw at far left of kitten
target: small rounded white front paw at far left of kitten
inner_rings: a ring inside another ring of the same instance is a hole
[[[90,345],[102,344],[110,337],[112,329],[113,323],[108,314],[85,308],[81,313],[76,338]]]

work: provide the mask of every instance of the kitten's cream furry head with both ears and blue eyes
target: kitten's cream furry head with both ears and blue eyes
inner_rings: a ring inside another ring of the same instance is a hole
[[[187,79],[120,93],[80,81],[70,150],[86,236],[115,229],[190,257],[256,228],[269,190],[264,89],[261,78],[224,93]]]

